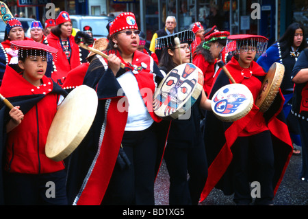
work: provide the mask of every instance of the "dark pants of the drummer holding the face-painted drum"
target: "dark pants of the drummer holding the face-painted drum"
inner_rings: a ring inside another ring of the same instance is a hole
[[[170,176],[169,205],[198,205],[207,179],[204,144],[188,148],[167,145],[164,159]]]

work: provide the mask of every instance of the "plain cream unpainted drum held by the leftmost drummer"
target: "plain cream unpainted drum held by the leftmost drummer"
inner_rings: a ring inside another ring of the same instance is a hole
[[[97,113],[94,89],[81,85],[66,96],[48,132],[45,154],[53,161],[68,157],[84,139]]]

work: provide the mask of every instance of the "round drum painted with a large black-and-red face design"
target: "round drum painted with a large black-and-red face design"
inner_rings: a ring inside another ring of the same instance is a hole
[[[192,63],[172,69],[153,96],[153,110],[165,120],[177,119],[196,102],[203,90],[203,72]]]

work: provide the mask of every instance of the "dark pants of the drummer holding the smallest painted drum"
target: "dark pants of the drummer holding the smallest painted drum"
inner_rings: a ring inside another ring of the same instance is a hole
[[[251,203],[251,188],[249,174],[256,176],[259,182],[261,198],[256,198],[256,205],[270,205],[274,198],[274,152],[270,132],[261,132],[249,137],[238,137],[232,146],[233,150],[233,185],[234,201],[238,205]],[[250,156],[253,154],[253,157]],[[256,172],[249,172],[248,166],[255,161]]]

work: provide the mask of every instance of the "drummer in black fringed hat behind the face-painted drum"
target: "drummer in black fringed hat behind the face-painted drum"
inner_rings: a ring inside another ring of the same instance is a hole
[[[179,46],[175,45],[175,37],[180,40]],[[184,30],[156,39],[155,47],[163,49],[159,63],[162,73],[167,74],[173,67],[190,62],[190,46],[194,38],[192,30]],[[181,79],[185,80],[179,80]],[[169,205],[198,205],[207,178],[207,160],[200,128],[199,108],[210,110],[211,101],[207,99],[203,89],[201,92],[190,109],[190,117],[179,117],[171,122],[164,154],[170,175]],[[187,174],[190,176],[189,179]]]

